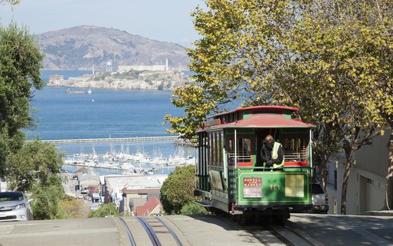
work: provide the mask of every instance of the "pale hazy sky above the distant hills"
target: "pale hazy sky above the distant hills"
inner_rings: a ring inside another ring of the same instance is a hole
[[[0,5],[1,25],[15,20],[32,34],[77,25],[113,27],[130,34],[191,46],[198,39],[190,16],[202,0],[22,0]]]

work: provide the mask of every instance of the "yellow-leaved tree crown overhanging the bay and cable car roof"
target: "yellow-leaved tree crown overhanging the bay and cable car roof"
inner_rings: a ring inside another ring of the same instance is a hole
[[[208,115],[233,108],[233,102],[269,101],[269,79],[283,62],[283,30],[295,17],[294,2],[207,0],[208,11],[196,8],[192,16],[201,39],[188,49],[195,82],[175,89],[172,103],[186,115],[165,117],[169,133],[192,138]]]

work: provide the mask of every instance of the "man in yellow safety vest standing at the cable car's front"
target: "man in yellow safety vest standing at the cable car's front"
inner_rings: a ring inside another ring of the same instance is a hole
[[[274,141],[273,136],[265,138],[261,149],[261,157],[264,167],[280,168],[284,166],[284,150],[281,143]]]

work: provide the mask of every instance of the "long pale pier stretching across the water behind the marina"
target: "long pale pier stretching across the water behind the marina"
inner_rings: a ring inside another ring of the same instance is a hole
[[[46,143],[113,143],[113,142],[146,142],[146,141],[176,141],[179,136],[142,136],[133,138],[80,138],[80,139],[54,139],[42,140]]]

